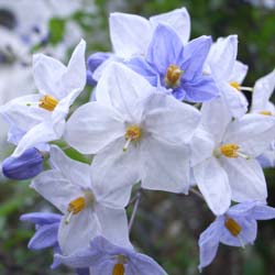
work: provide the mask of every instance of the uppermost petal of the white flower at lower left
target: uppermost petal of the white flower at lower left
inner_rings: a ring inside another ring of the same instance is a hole
[[[51,147],[50,155],[52,167],[59,170],[69,183],[84,188],[91,187],[90,166],[88,164],[69,158],[59,147],[54,145]]]

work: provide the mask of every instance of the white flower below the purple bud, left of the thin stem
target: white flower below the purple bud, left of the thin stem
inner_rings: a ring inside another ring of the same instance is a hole
[[[63,213],[58,243],[65,255],[86,248],[89,240],[102,233],[116,243],[128,242],[128,223],[124,205],[131,189],[108,193],[90,175],[90,166],[68,158],[58,147],[52,146],[53,169],[41,173],[31,184],[40,195]]]

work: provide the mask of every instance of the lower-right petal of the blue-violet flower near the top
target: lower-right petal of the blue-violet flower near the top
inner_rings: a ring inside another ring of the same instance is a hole
[[[186,101],[205,102],[219,96],[219,89],[209,76],[201,76],[190,81],[186,81],[186,79],[183,78],[180,86],[186,91],[184,98]]]

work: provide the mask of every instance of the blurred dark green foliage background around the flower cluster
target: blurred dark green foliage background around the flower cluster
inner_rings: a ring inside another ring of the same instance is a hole
[[[98,12],[94,15],[87,15],[85,11],[73,15],[85,31],[85,38],[88,41],[87,56],[97,51],[111,51],[109,12],[122,11],[150,16],[186,7],[191,16],[193,37],[209,34],[216,40],[229,34],[239,35],[239,59],[250,66],[245,86],[252,86],[275,66],[275,10],[255,8],[241,0],[97,0],[96,6]],[[87,16],[90,20],[87,21]],[[64,23],[66,20],[51,21],[51,43],[62,38]],[[80,101],[86,99],[87,97],[82,97]],[[73,156],[77,157],[74,153]],[[274,175],[274,169],[266,170],[268,204],[273,207]],[[65,267],[54,272],[50,270],[51,250],[29,251],[26,245],[34,228],[19,221],[22,213],[54,209],[29,188],[28,182],[2,180],[0,188],[0,274],[73,274]],[[129,213],[131,210],[130,207]],[[154,257],[168,274],[198,274],[197,240],[212,220],[211,212],[194,195],[186,197],[144,191],[131,239],[140,251]],[[202,274],[275,274],[275,221],[258,223],[258,237],[254,246],[243,250],[220,245],[216,260]]]

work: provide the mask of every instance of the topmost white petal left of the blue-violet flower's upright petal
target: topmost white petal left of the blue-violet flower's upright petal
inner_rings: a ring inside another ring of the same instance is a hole
[[[110,36],[117,55],[129,58],[146,53],[151,25],[142,16],[113,12],[109,19]]]

